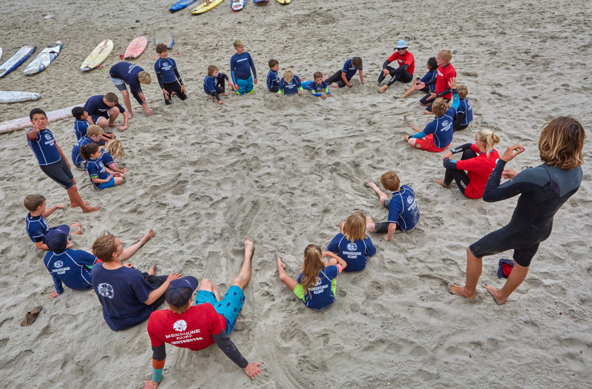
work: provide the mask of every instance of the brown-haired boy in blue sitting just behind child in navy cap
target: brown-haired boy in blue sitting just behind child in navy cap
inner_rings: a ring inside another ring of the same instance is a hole
[[[35,243],[35,247],[38,250],[49,250],[45,243],[47,233],[55,227],[47,227],[46,217],[49,217],[58,208],[63,210],[66,209],[65,204],[57,204],[52,208],[46,209],[45,197],[41,195],[27,195],[24,201],[25,208],[29,211],[27,217],[25,217],[25,230],[31,241]],[[82,227],[80,223],[74,223],[70,228],[79,227],[78,230],[72,233],[72,235],[82,234]]]

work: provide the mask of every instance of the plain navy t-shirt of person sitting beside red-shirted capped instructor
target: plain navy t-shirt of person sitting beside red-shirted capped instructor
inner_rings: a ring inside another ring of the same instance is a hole
[[[103,306],[105,322],[114,331],[140,324],[150,317],[152,306],[144,304],[154,290],[138,269],[107,270],[97,263],[91,270],[92,288]]]

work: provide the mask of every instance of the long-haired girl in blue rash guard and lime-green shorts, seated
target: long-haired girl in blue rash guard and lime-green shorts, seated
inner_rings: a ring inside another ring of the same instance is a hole
[[[323,257],[330,256],[328,263]],[[321,247],[308,245],[304,249],[302,272],[297,279],[289,277],[286,265],[275,255],[278,265],[279,281],[303,301],[308,308],[320,311],[335,301],[336,277],[348,266],[348,263],[330,251],[321,252]]]

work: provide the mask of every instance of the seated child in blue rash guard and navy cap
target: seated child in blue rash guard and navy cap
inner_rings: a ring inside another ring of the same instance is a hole
[[[62,283],[73,290],[92,289],[91,268],[99,260],[85,250],[70,249],[72,245],[68,239],[69,232],[70,228],[62,225],[47,233],[46,244],[49,252],[43,258],[43,263],[52,275],[56,287],[56,290],[47,296],[49,299],[64,292]]]

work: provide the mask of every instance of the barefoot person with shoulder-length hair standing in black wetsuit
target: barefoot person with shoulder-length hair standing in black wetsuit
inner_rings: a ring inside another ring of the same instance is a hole
[[[449,292],[475,298],[482,257],[513,249],[515,265],[504,287],[498,290],[482,284],[496,304],[506,304],[511,292],[525,280],[539,243],[551,234],[555,213],[580,188],[584,139],[584,128],[579,121],[564,116],[554,118],[540,134],[539,152],[543,163],[520,173],[504,169],[504,166],[522,153],[524,147],[514,144],[507,148],[487,181],[483,200],[493,202],[522,195],[510,223],[466,248],[465,286],[448,285]],[[500,185],[502,177],[509,181]]]

